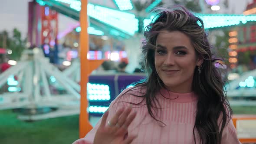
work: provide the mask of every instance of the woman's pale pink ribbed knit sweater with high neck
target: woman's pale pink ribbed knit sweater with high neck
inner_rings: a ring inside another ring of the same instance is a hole
[[[127,90],[124,90],[122,93]],[[118,108],[129,106],[128,103],[121,101],[139,103],[142,100],[142,98],[132,96],[131,94],[141,95],[141,90],[133,90],[123,97],[112,101],[109,106],[108,121]],[[161,90],[157,98],[161,109],[158,109],[154,114],[166,125],[151,118],[146,105],[133,105],[132,111],[137,111],[137,116],[129,126],[128,134],[137,134],[138,137],[132,144],[194,144],[193,128],[197,110],[197,96],[193,92],[179,94]],[[145,101],[142,104],[145,104]],[[73,144],[92,144],[100,121],[101,119],[84,138],[75,141]],[[195,135],[196,142],[199,144],[197,131],[195,131]],[[232,121],[229,121],[223,130],[221,144],[241,144],[236,136],[236,129]]]

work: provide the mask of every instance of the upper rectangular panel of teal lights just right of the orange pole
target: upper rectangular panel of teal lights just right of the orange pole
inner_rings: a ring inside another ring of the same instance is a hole
[[[108,85],[87,83],[87,98],[89,101],[109,101],[110,91]]]

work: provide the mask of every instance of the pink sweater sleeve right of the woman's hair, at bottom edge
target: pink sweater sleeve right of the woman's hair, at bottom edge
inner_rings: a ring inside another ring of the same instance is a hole
[[[223,129],[221,144],[241,144],[237,137],[236,128],[232,119]]]

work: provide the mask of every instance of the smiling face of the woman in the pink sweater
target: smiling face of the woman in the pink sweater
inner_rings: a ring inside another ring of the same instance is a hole
[[[197,59],[187,35],[162,30],[156,40],[154,59],[158,75],[170,91],[192,91],[194,70],[203,63],[203,59]]]

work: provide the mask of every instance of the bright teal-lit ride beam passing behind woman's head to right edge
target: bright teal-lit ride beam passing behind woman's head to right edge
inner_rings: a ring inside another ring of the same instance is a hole
[[[247,22],[256,21],[256,15],[217,15],[217,14],[196,14],[203,20],[205,29],[213,29],[225,26],[235,26],[241,23],[246,24]],[[148,26],[149,23],[153,20],[154,16],[151,16],[150,19],[144,19],[144,27]]]

